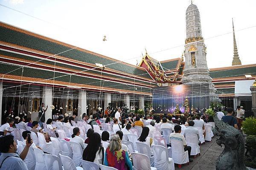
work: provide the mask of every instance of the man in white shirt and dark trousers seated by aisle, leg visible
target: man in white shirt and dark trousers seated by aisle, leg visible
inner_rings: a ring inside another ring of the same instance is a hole
[[[198,120],[200,121],[200,120]],[[174,127],[174,130],[175,130],[175,133],[171,133],[170,134],[170,137],[169,137],[169,143],[172,144],[172,141],[171,140],[180,140],[183,142],[183,145],[184,145],[184,151],[188,151],[189,153],[189,157],[190,157],[190,152],[191,152],[191,147],[190,146],[187,146],[187,143],[186,143],[186,139],[184,138],[184,136],[181,133],[181,126],[180,125],[175,125]],[[193,160],[189,159],[189,162],[192,162]]]

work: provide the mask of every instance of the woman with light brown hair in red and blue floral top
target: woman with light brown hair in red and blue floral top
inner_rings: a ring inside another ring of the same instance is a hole
[[[118,170],[132,170],[132,164],[126,150],[122,150],[122,142],[119,135],[111,136],[110,143],[105,153],[104,165]]]

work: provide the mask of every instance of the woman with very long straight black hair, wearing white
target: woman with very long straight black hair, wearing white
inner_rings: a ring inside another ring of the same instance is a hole
[[[90,142],[84,149],[83,160],[103,164],[104,148],[101,146],[99,133],[93,133]]]

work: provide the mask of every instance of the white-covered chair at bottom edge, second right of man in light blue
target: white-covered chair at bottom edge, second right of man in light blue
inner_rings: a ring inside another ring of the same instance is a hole
[[[63,170],[61,159],[56,155],[44,153],[44,161],[47,170]]]

